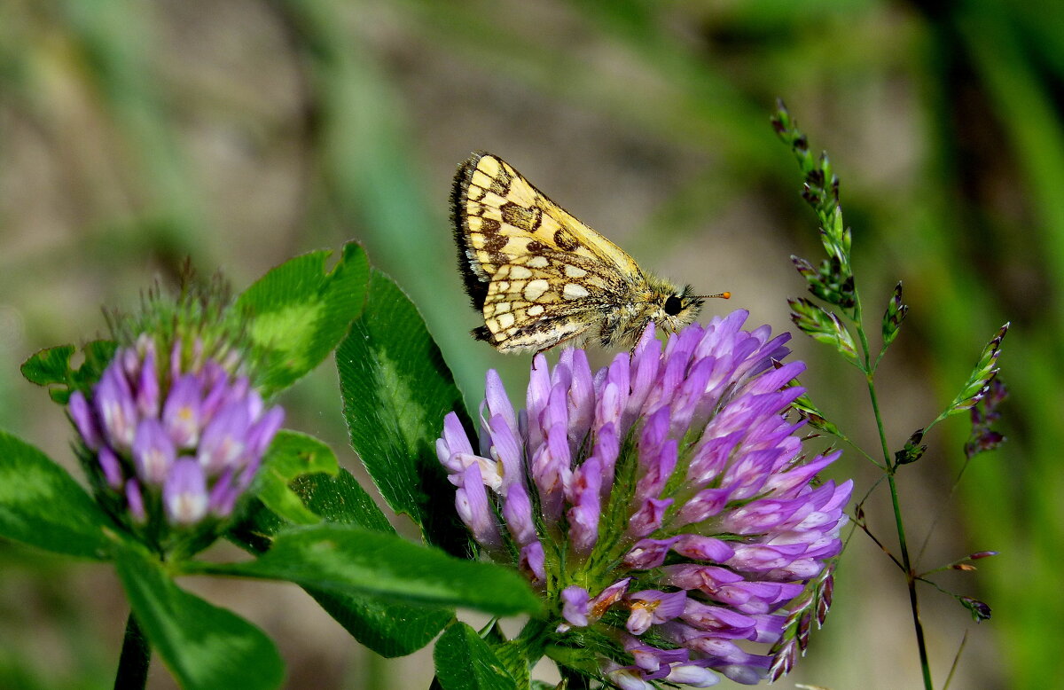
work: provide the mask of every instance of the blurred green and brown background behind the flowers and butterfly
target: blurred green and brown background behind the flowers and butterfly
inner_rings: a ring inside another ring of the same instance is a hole
[[[365,244],[422,310],[471,405],[488,366],[520,399],[527,357],[467,335],[447,197],[473,149],[505,158],[641,264],[730,290],[750,324],[789,326],[820,258],[798,174],[768,126],[783,97],[843,178],[869,328],[895,281],[911,306],[885,361],[892,443],[1000,359],[1010,440],[952,502],[966,423],[900,476],[921,564],[988,602],[976,626],[924,588],[941,687],[1062,687],[1064,596],[1064,4],[1057,0],[2,0],[0,427],[72,464],[38,348],[103,331],[185,257],[237,289],[293,253]],[[704,317],[703,317],[704,321]],[[815,401],[876,448],[860,376],[796,339]],[[599,356],[599,363],[606,360]],[[346,450],[334,371],[289,394],[290,426]],[[855,494],[875,473],[849,453]],[[893,544],[885,492],[868,504]],[[427,688],[428,653],[360,650],[294,587],[189,580],[279,641],[293,688]],[[127,609],[109,569],[0,543],[0,687],[111,687]],[[157,666],[157,664],[156,664]],[[549,677],[549,676],[545,676]],[[900,573],[855,535],[809,657],[778,684],[919,685]],[[151,686],[172,687],[155,668]]]

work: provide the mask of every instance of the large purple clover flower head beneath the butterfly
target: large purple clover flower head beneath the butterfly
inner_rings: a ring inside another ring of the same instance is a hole
[[[757,684],[772,666],[758,645],[781,641],[808,585],[830,589],[852,482],[811,483],[839,454],[802,455],[785,415],[804,365],[779,364],[789,334],[747,316],[664,350],[651,326],[596,374],[581,349],[553,369],[537,355],[519,413],[489,371],[476,450],[444,421],[437,455],[473,538],[543,592],[554,644],[605,651],[616,687]]]

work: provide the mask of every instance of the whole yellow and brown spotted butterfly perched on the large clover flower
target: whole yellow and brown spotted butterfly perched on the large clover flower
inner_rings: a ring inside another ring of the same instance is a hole
[[[466,292],[500,352],[560,343],[631,346],[654,322],[675,332],[706,297],[642,268],[502,159],[479,151],[454,176],[454,241]]]

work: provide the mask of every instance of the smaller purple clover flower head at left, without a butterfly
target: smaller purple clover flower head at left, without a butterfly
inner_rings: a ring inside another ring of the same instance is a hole
[[[92,392],[68,411],[104,505],[135,525],[190,527],[228,518],[251,483],[284,411],[248,378],[176,342],[167,361],[142,334],[119,348]]]

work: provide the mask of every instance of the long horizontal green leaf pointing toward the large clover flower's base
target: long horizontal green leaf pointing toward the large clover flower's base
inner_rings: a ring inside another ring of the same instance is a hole
[[[254,561],[187,563],[186,572],[283,579],[327,593],[462,606],[496,615],[539,608],[537,597],[512,570],[353,525],[294,527],[278,533],[270,549]]]

